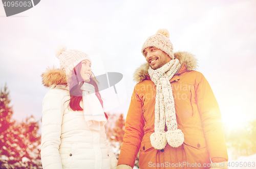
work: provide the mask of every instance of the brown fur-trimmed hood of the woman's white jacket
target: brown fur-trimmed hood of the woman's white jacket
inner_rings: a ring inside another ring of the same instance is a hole
[[[50,88],[56,85],[67,85],[66,73],[64,70],[55,67],[48,67],[46,72],[42,73],[42,85]]]

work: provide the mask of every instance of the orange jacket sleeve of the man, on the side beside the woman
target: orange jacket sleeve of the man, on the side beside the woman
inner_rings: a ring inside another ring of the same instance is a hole
[[[135,88],[136,89],[136,88]],[[119,164],[134,166],[144,135],[144,120],[142,118],[142,100],[134,90],[129,111],[125,120],[125,133],[118,159]]]

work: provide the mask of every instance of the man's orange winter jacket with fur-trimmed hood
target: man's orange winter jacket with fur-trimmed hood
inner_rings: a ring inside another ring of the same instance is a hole
[[[184,143],[173,148],[154,149],[150,135],[154,132],[156,86],[145,63],[136,70],[134,88],[125,122],[125,134],[119,164],[134,166],[138,151],[140,168],[210,168],[214,157],[228,160],[221,113],[205,77],[193,69],[197,60],[188,52],[176,52],[181,68],[172,79],[178,129]],[[167,130],[166,130],[167,131]]]

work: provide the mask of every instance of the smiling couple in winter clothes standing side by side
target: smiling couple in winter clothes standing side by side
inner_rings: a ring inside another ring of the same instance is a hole
[[[147,63],[136,70],[119,160],[106,141],[108,116],[88,55],[60,49],[60,69],[42,74],[41,159],[44,168],[227,168],[218,103],[197,60],[173,52],[159,30],[142,46]],[[116,166],[118,165],[118,166]]]

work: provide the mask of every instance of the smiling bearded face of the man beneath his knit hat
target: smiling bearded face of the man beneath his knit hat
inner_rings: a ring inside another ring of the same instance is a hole
[[[143,52],[146,57],[146,62],[150,64],[151,68],[154,70],[161,68],[172,60],[167,53],[153,46],[145,48]]]

